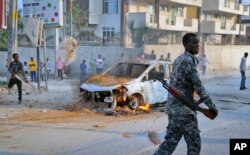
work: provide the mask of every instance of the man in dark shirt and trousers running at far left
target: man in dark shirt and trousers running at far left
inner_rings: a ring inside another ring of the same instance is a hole
[[[25,81],[27,81],[27,79],[25,77],[25,73],[23,70],[23,64],[19,62],[19,55],[17,53],[14,53],[12,57],[14,61],[12,61],[9,66],[9,72],[11,73],[11,78],[8,84],[8,88],[10,89],[15,84],[17,85],[18,101],[19,101],[19,104],[21,104],[22,103],[22,81],[17,79],[16,76],[20,76],[24,78]]]

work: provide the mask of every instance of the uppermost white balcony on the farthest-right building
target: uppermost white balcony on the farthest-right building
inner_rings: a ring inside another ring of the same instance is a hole
[[[213,13],[224,12],[228,14],[238,14],[249,16],[249,6],[233,1],[203,0],[203,11],[213,11]]]

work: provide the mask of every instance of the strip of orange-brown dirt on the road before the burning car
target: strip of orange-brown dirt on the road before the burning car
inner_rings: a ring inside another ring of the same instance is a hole
[[[9,123],[86,123],[97,128],[104,128],[110,122],[135,121],[144,119],[154,119],[164,115],[159,112],[152,112],[140,115],[118,115],[105,116],[104,114],[95,113],[89,109],[83,109],[81,112],[68,112],[62,110],[47,110],[47,109],[23,109],[13,113],[11,116],[2,119],[0,124]],[[1,131],[1,129],[0,129]],[[4,130],[5,131],[5,130]]]

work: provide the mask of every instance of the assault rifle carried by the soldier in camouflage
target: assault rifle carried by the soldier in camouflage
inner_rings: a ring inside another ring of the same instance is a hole
[[[216,114],[214,114],[212,110],[199,107],[199,104],[203,102],[202,99],[200,99],[198,102],[194,103],[192,100],[190,100],[189,98],[184,96],[179,90],[170,86],[164,79],[161,79],[159,77],[155,77],[155,80],[160,81],[163,84],[163,87],[165,89],[167,89],[170,94],[172,94],[176,99],[181,101],[181,103],[185,104],[190,109],[192,109],[194,111],[200,111],[206,117],[208,117],[209,119],[212,119],[212,120],[216,117]]]

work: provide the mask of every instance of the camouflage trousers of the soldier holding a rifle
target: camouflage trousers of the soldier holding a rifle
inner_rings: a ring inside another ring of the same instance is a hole
[[[164,141],[160,144],[154,155],[171,155],[181,137],[187,143],[188,155],[199,155],[201,149],[200,130],[196,115],[169,116],[169,124]]]

